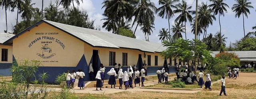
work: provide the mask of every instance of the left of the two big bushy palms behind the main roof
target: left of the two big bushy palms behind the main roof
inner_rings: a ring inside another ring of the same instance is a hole
[[[130,18],[134,7],[132,6],[133,0],[104,0],[102,8],[105,8],[104,14],[111,16],[118,20],[118,31],[120,32],[121,18]]]

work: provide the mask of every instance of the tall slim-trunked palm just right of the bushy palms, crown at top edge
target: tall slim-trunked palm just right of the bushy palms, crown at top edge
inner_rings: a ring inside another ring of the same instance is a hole
[[[172,16],[174,16],[174,12],[172,12],[172,8],[177,9],[177,7],[172,4],[174,4],[176,2],[179,2],[179,0],[159,0],[158,4],[162,5],[162,6],[156,10],[156,12],[159,12],[158,16],[160,16],[162,18],[164,18],[164,16],[165,16],[165,19],[168,19],[169,36],[171,36],[170,35],[170,18],[172,18]],[[169,38],[171,38],[171,37],[169,37]]]

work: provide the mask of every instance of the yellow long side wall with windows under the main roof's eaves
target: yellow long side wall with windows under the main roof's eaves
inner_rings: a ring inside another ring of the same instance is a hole
[[[151,55],[151,65],[155,66],[154,59],[155,55],[158,55],[158,66],[163,66],[164,64],[164,58],[159,55],[160,53],[146,53],[146,57],[144,58],[144,52],[135,50],[135,49],[111,49],[111,48],[94,48],[92,46],[89,46],[88,44],[84,44],[84,53],[86,57],[87,63],[90,63],[90,60],[92,58],[92,51],[98,50],[98,55],[100,57],[100,62],[106,66],[109,67],[109,51],[116,52],[116,63],[120,63],[122,65],[122,53],[127,53],[127,64],[128,65],[137,65],[138,61],[138,54],[142,55],[142,61],[146,61],[148,63],[148,57],[147,55]],[[169,61],[169,59],[167,60]]]

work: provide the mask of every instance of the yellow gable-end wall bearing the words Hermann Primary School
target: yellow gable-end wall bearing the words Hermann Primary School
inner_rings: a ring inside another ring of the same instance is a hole
[[[46,37],[52,39],[45,39]],[[40,38],[40,40],[37,38]],[[34,40],[38,41],[33,42]],[[18,59],[37,59],[42,61],[44,66],[75,67],[83,53],[84,42],[45,23],[32,28],[13,40],[14,57]]]

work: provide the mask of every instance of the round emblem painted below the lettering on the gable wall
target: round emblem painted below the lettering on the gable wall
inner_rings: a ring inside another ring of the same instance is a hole
[[[39,57],[41,57],[43,59],[49,59],[49,58],[53,57],[54,55],[56,55],[56,53],[52,53],[52,48],[48,47],[46,45],[42,46],[41,50],[42,50],[42,54],[36,53],[36,55],[38,55]]]

